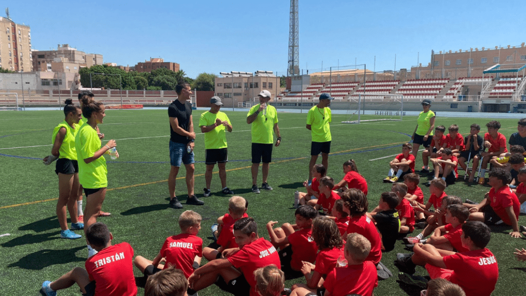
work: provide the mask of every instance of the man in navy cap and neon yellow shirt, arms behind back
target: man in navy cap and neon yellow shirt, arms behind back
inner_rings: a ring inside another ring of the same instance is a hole
[[[309,182],[312,180],[312,168],[316,165],[318,155],[321,152],[321,164],[327,169],[329,165],[330,135],[329,123],[332,114],[329,108],[330,101],[334,98],[329,94],[320,95],[318,105],[310,108],[307,114],[307,129],[311,131],[312,142],[310,145]]]

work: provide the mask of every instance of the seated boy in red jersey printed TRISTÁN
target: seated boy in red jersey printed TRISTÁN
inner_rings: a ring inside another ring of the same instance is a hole
[[[67,289],[77,283],[80,292],[84,295],[136,295],[131,246],[127,242],[112,246],[113,235],[106,224],[100,222],[93,223],[87,228],[86,239],[97,251],[86,260],[86,269],[76,267],[56,281],[45,281],[40,292],[46,296],[55,296],[57,290]]]

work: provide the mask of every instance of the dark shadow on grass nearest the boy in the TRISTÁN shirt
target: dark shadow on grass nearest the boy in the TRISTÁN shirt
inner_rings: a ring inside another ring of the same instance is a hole
[[[75,255],[77,251],[82,249],[86,249],[86,246],[65,250],[40,250],[20,258],[18,262],[11,263],[8,265],[8,267],[19,267],[28,270],[42,270],[45,267],[55,264],[84,262],[86,261],[86,258],[79,258]],[[85,255],[87,256],[87,250]]]

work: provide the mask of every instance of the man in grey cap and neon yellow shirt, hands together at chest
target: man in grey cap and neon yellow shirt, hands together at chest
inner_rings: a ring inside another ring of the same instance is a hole
[[[201,132],[205,134],[206,188],[203,189],[205,190],[205,197],[211,195],[210,183],[216,162],[219,168],[221,192],[227,195],[234,194],[234,192],[227,187],[227,171],[225,169],[228,161],[226,130],[232,132],[232,125],[230,124],[228,116],[219,111],[222,105],[223,103],[220,97],[212,97],[210,99],[210,110],[201,114],[199,118],[199,127],[201,128]]]

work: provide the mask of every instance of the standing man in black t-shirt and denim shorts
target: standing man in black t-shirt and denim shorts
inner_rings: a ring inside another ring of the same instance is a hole
[[[170,175],[168,176],[168,191],[170,192],[169,207],[182,209],[183,205],[175,196],[175,180],[181,162],[186,168],[186,188],[188,189],[188,205],[204,205],[202,200],[194,195],[194,124],[192,122],[192,107],[188,101],[192,90],[188,83],[179,83],[175,87],[177,99],[168,106],[170,118]]]

